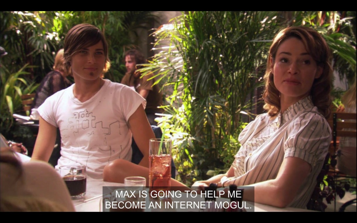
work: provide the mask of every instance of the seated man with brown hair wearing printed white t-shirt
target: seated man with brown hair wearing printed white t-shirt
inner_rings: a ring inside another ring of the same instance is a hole
[[[149,139],[155,138],[145,115],[146,101],[130,87],[101,78],[109,62],[108,46],[95,26],[79,24],[66,35],[66,69],[75,84],[56,92],[38,108],[39,134],[32,159],[48,161],[61,133],[58,165],[82,164],[87,176],[103,179],[107,169],[131,160],[132,136],[144,155],[139,165],[149,166]]]

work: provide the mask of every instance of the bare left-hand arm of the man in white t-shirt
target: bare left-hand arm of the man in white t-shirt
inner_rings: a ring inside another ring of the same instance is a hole
[[[36,138],[32,160],[48,162],[55,146],[57,129],[40,117],[39,133]]]

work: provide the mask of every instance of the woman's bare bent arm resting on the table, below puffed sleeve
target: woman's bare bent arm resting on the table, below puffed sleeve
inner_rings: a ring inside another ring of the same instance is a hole
[[[247,185],[253,187],[245,188],[243,199],[276,207],[286,207],[293,201],[298,189],[310,172],[311,166],[306,161],[297,157],[287,157],[283,160],[275,179]],[[234,184],[234,182],[235,179],[232,179],[225,182],[224,185]]]

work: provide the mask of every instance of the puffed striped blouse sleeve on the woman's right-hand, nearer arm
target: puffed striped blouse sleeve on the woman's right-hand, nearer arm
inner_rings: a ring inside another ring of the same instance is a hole
[[[318,113],[304,113],[292,123],[284,144],[286,157],[298,157],[315,166],[323,161],[331,142],[331,129]]]

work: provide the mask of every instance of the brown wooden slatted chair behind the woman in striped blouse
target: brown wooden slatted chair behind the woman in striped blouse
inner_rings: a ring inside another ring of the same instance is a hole
[[[330,118],[330,120],[328,120],[328,123],[330,124],[332,130],[333,155],[334,157],[336,157],[336,152],[338,148],[337,137],[356,138],[356,113],[333,112],[332,120]],[[330,151],[330,153],[332,153],[332,151]],[[356,177],[346,176],[346,174],[337,171],[336,165],[334,165],[333,167],[334,168],[330,170],[330,172],[333,173],[333,177],[335,178],[335,187],[337,186],[336,179],[338,177],[356,178]],[[335,210],[336,210],[336,195],[337,194],[335,192]],[[343,204],[339,211],[343,212],[346,206],[353,203],[356,203],[356,198]]]

